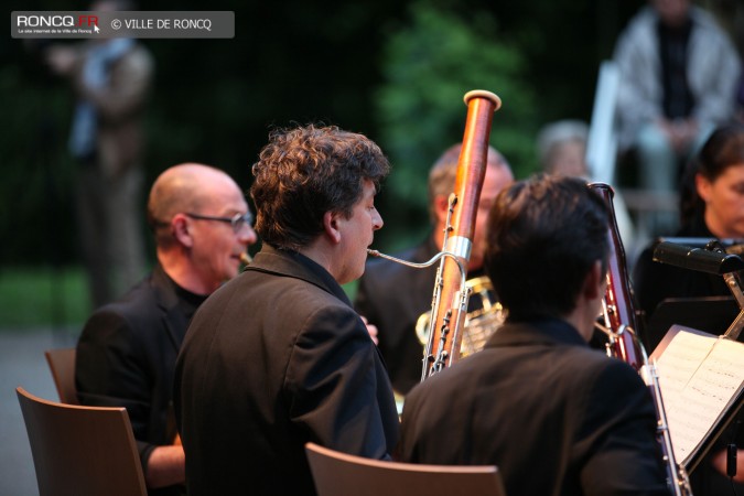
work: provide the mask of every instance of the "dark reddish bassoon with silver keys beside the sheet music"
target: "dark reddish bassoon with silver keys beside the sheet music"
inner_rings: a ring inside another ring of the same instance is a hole
[[[656,363],[649,363],[648,355],[636,334],[638,326],[625,263],[625,249],[615,218],[614,192],[610,185],[604,183],[592,183],[589,187],[604,200],[610,211],[610,258],[607,289],[603,301],[604,325],[597,324],[597,327],[607,335],[607,355],[619,358],[635,368],[649,388],[656,407],[657,436],[667,468],[669,489],[675,496],[692,496],[687,471],[675,459]]]

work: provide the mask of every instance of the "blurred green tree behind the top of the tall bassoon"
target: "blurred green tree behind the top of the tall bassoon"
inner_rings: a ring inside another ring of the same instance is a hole
[[[400,218],[409,235],[413,230],[422,237],[428,230],[425,177],[444,148],[463,138],[467,112],[463,90],[489,89],[503,99],[492,142],[508,157],[517,176],[536,169],[536,100],[527,84],[524,55],[500,41],[498,23],[489,12],[457,14],[419,1],[408,14],[405,23],[388,29],[384,83],[374,98],[380,141],[393,163],[388,188],[380,196],[382,207],[392,212],[393,205],[407,205],[396,213],[396,226]],[[400,245],[410,244],[398,229],[390,230],[392,239],[403,241]]]

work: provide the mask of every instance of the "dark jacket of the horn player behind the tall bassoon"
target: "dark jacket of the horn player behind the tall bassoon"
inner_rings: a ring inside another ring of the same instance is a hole
[[[421,245],[396,254],[421,263],[439,252],[431,237]],[[413,269],[385,259],[371,259],[359,279],[354,308],[378,330],[379,349],[385,357],[396,391],[405,395],[421,380],[423,345],[416,335],[416,321],[431,310],[439,262]]]

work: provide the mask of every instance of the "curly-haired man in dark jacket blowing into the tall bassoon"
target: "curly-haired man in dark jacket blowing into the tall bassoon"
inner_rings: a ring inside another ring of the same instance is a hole
[[[313,495],[304,445],[386,459],[398,412],[385,364],[341,284],[364,272],[389,164],[333,126],[271,132],[252,166],[250,266],[188,326],[174,405],[190,495]]]

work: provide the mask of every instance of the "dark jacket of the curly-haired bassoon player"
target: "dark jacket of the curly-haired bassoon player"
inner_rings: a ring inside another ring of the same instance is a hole
[[[385,365],[341,285],[266,244],[194,315],[174,399],[191,495],[311,495],[305,442],[384,459],[398,438]]]

